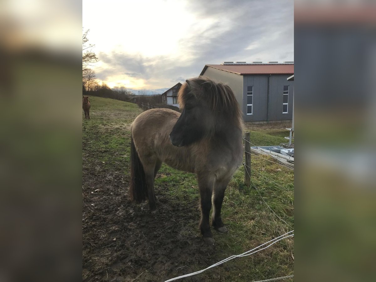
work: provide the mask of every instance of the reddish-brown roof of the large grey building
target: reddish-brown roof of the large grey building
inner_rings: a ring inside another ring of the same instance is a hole
[[[205,65],[200,75],[203,75],[208,67],[240,75],[294,73],[294,64],[221,64]]]

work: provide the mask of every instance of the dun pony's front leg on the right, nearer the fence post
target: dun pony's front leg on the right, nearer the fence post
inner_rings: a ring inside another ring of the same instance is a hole
[[[221,218],[221,209],[224,198],[224,191],[227,188],[230,180],[222,180],[215,183],[213,194],[212,194],[212,203],[213,203],[213,212],[211,218],[212,226],[221,233],[227,232],[227,228],[224,227],[222,218]]]

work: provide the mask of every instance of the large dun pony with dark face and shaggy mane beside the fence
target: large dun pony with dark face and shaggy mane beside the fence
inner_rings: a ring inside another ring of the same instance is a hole
[[[243,120],[229,86],[207,77],[186,80],[178,93],[182,113],[150,109],[132,123],[130,198],[149,199],[156,211],[154,179],[162,162],[196,173],[200,190],[200,230],[214,239],[209,224],[227,232],[221,219],[224,191],[243,160]]]

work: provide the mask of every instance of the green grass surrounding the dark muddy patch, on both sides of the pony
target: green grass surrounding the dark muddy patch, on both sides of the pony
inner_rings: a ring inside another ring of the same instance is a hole
[[[83,169],[93,166],[97,170],[129,176],[129,126],[141,109],[118,100],[89,99],[91,120],[85,120],[83,115]],[[256,146],[279,145],[288,135],[285,128],[260,128],[250,133],[251,142]],[[244,166],[241,166],[226,190],[222,218],[230,232],[213,233],[219,246],[215,251],[217,261],[246,252],[294,229],[294,171],[256,157],[251,158],[251,167],[250,186],[244,185]],[[155,179],[157,194],[161,187],[167,187],[164,193],[168,193],[169,199],[182,205],[197,203],[198,206],[199,190],[194,174],[162,165]],[[185,228],[196,234],[197,224],[192,222]],[[226,268],[218,267],[200,274],[200,279],[217,281],[220,276],[225,281],[250,281],[290,275],[294,268],[293,250],[293,239],[288,238],[255,255],[227,262]],[[200,266],[193,265],[191,269],[199,270]]]

